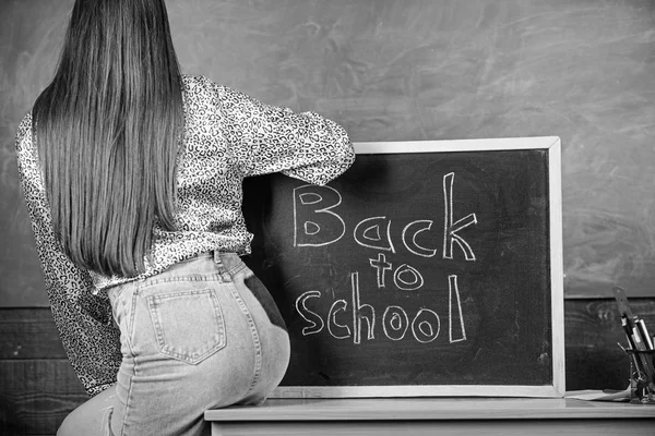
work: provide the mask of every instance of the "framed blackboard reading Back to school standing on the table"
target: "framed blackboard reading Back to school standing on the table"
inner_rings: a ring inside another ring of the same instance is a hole
[[[278,396],[563,392],[560,141],[356,144],[326,186],[248,180]]]

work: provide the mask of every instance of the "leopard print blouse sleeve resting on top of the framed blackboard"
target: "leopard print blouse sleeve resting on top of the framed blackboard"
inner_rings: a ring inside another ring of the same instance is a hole
[[[282,172],[322,185],[354,162],[350,140],[334,121],[265,105],[225,86],[216,92],[222,134],[245,177]]]

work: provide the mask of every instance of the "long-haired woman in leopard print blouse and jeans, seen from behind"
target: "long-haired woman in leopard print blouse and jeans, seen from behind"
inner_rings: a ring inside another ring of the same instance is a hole
[[[76,0],[16,149],[53,318],[94,396],[58,434],[196,435],[206,409],[263,401],[289,343],[239,258],[241,182],[327,183],[354,160],[345,131],[181,75],[163,0]]]

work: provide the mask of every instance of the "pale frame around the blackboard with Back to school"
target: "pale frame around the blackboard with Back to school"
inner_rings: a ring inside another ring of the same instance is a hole
[[[561,140],[558,136],[354,143],[357,155],[541,149],[548,155],[552,380],[547,385],[278,386],[272,398],[563,397],[564,291]]]

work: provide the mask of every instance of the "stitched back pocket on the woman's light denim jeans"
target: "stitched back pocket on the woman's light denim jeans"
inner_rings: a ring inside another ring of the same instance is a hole
[[[225,319],[213,289],[179,290],[146,300],[163,354],[198,364],[225,347]]]

